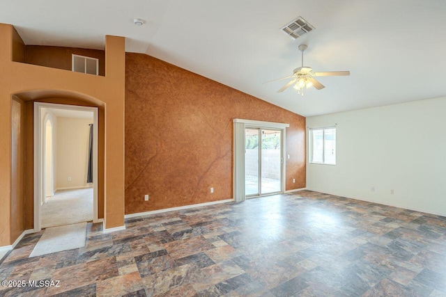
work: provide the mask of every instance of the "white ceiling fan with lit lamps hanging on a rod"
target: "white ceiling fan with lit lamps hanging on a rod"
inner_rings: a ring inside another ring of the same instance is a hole
[[[282,77],[282,79],[291,79],[289,83],[286,83],[285,86],[277,90],[277,93],[282,93],[287,88],[293,86],[298,93],[304,95],[304,88],[310,88],[314,86],[314,88],[321,90],[325,88],[322,83],[316,81],[314,77],[334,77],[334,76],[348,76],[350,75],[350,71],[332,71],[332,72],[313,72],[312,67],[304,66],[304,51],[307,49],[307,45],[299,45],[298,49],[302,52],[302,66],[295,68],[293,70],[293,75],[289,77]],[[282,79],[274,79],[272,81],[279,81]],[[270,83],[272,81],[266,81],[266,83]]]

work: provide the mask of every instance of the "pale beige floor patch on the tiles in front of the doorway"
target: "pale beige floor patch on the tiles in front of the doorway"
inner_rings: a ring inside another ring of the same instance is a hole
[[[86,223],[45,229],[29,257],[52,254],[85,246]]]

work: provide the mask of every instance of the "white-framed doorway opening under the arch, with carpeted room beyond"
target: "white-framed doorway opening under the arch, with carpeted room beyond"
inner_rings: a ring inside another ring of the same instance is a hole
[[[34,231],[98,222],[98,108],[34,103]]]

